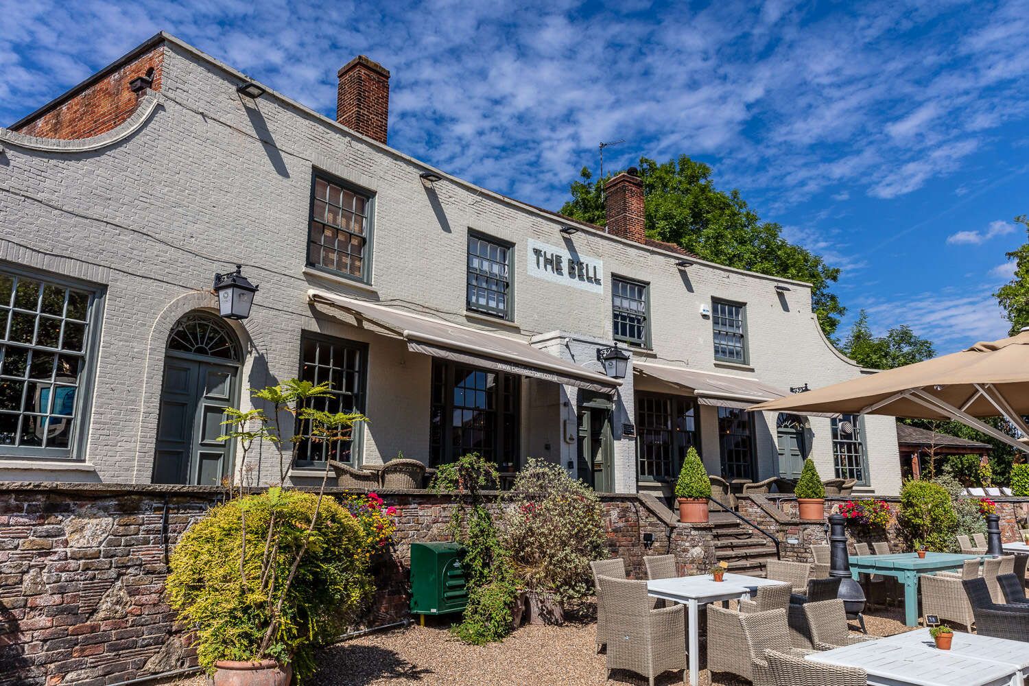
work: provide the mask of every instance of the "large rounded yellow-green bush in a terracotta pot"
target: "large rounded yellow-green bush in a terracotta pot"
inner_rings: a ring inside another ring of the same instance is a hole
[[[283,594],[316,507],[318,526]],[[267,540],[275,554],[267,568],[270,578],[261,579]],[[211,508],[186,531],[171,556],[168,602],[179,621],[196,630],[197,658],[209,672],[215,660],[268,656],[293,662],[303,679],[314,673],[315,647],[338,636],[370,600],[372,552],[357,519],[331,498],[319,506],[313,494],[270,489]],[[280,603],[271,642],[261,652]]]

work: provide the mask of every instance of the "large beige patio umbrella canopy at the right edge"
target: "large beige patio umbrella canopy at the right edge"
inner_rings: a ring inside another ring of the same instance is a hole
[[[1029,426],[1029,329],[960,353],[751,405],[751,411],[888,414],[956,420],[1029,453],[1029,445],[980,421],[1004,417],[1024,436]]]

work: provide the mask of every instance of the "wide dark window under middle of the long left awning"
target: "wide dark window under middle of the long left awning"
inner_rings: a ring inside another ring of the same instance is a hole
[[[518,374],[432,361],[429,453],[433,465],[478,453],[500,471],[518,469]]]

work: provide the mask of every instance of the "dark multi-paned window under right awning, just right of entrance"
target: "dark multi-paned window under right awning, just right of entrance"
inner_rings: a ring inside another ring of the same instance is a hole
[[[698,417],[693,398],[636,394],[636,449],[641,479],[670,481],[678,477],[686,450],[700,449]]]

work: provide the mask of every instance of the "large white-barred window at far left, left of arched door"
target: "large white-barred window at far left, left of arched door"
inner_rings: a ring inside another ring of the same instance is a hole
[[[0,453],[70,458],[83,444],[101,292],[0,269]]]

